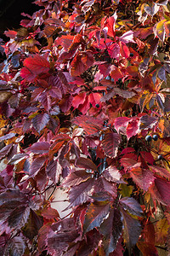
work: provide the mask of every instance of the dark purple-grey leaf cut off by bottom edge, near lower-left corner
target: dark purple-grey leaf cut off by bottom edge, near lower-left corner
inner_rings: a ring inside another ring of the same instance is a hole
[[[22,256],[25,253],[25,242],[20,236],[14,236],[13,239],[8,241],[8,249],[10,248],[11,255]]]

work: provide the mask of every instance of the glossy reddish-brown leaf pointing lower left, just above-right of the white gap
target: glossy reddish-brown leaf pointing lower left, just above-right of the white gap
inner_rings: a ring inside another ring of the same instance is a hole
[[[64,187],[73,187],[77,186],[78,184],[85,182],[91,177],[92,174],[86,172],[85,170],[71,172],[64,180],[62,185]]]

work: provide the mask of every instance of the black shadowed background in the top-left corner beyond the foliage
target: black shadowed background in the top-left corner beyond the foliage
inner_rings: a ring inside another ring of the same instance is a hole
[[[35,11],[41,9],[35,0],[0,0],[0,38],[8,41],[3,34],[5,30],[17,29],[20,27],[20,20],[26,17],[20,15],[26,13],[32,15]]]

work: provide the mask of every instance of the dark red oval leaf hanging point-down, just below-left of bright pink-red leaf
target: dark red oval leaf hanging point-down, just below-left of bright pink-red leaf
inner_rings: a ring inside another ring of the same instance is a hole
[[[105,133],[101,146],[105,151],[105,155],[111,158],[116,157],[118,152],[118,145],[121,143],[121,137],[115,132]]]

